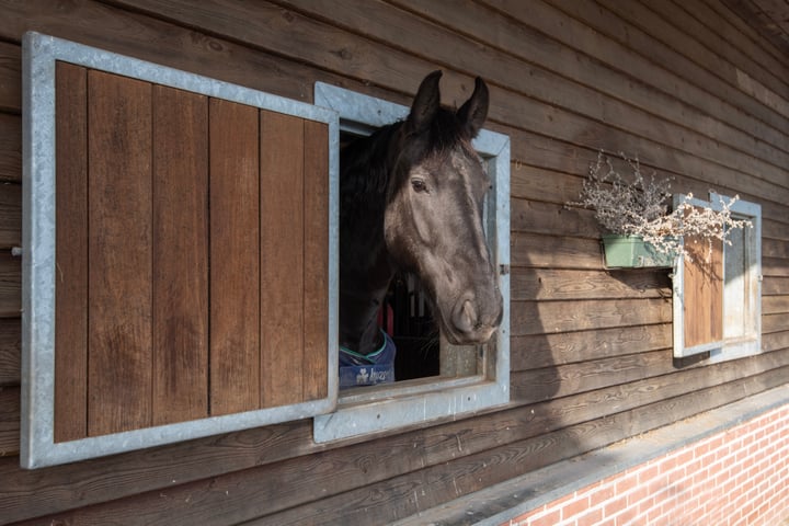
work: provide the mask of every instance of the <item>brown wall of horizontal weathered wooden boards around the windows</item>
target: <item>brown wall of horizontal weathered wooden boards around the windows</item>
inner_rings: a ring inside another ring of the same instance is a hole
[[[789,377],[789,57],[714,0],[0,1],[0,523],[386,524]],[[512,139],[512,402],[316,445],[311,421],[19,468],[20,39],[35,30],[310,101],[473,77]],[[763,347],[676,363],[665,272],[606,272],[568,209],[596,150],[763,208]]]

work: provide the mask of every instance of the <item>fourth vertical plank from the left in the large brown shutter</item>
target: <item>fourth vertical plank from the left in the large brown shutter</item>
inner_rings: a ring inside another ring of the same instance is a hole
[[[211,99],[210,412],[260,404],[258,108]]]

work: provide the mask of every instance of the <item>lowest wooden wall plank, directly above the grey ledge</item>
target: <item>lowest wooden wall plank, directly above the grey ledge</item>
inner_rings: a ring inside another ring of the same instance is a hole
[[[779,373],[735,380],[720,387],[659,401],[651,405],[614,414],[608,419],[576,424],[540,436],[510,443],[451,462],[449,469],[432,466],[376,484],[333,495],[308,505],[261,517],[247,524],[298,525],[320,522],[343,525],[350,522],[387,524],[516,477],[539,467],[574,456],[580,447],[599,448],[625,437],[660,427],[713,409],[732,400],[762,392],[782,384]],[[461,444],[461,437],[457,437]],[[583,446],[581,446],[583,444]],[[458,446],[459,448],[460,446]],[[316,493],[318,494],[318,493]]]

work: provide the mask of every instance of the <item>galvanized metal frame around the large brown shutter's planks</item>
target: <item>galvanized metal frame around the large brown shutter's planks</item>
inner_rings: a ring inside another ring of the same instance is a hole
[[[21,466],[37,468],[293,421],[332,411],[338,397],[338,114],[291,99],[175,70],[37,33],[23,38],[23,241]],[[159,425],[70,442],[54,441],[55,65],[66,61],[329,126],[329,396],[322,400]]]

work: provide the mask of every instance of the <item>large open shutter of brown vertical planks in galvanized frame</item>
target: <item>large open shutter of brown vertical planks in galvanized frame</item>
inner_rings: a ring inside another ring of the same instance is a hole
[[[331,411],[335,114],[50,37],[25,44],[31,78],[52,71],[36,78],[47,96],[26,102],[53,111],[27,107],[31,127],[55,136],[31,147],[25,180],[25,268],[52,289],[25,287],[23,465]]]

